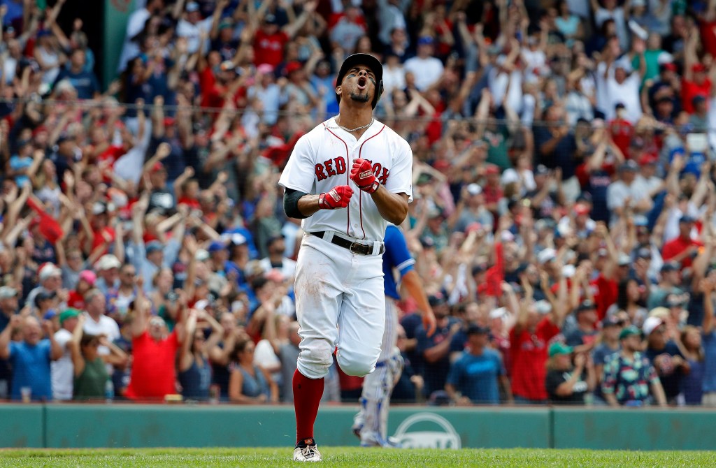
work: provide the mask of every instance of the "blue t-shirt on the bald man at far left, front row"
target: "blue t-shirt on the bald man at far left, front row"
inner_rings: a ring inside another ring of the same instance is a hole
[[[48,339],[40,340],[34,346],[24,341],[10,343],[10,364],[12,364],[12,391],[10,398],[21,399],[20,389],[29,386],[33,400],[52,399],[49,363],[50,343]]]

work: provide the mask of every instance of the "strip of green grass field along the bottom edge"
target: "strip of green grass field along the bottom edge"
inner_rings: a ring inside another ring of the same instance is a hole
[[[322,447],[326,467],[713,467],[716,452]],[[291,449],[1,449],[0,467],[296,467]]]

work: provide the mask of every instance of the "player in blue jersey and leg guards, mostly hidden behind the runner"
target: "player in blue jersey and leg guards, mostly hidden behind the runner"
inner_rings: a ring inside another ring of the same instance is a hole
[[[365,376],[360,398],[360,411],[354,417],[353,432],[360,437],[361,447],[400,447],[400,441],[387,435],[390,394],[400,379],[403,360],[397,348],[398,283],[403,285],[423,311],[422,321],[428,336],[435,332],[435,315],[422,288],[420,276],[413,268],[413,260],[400,228],[388,225],[385,231],[383,254],[383,284],[385,289],[385,329],[376,369]],[[396,274],[397,273],[397,274]]]

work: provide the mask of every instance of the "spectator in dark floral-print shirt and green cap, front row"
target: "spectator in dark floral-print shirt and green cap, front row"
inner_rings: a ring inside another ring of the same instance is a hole
[[[601,391],[611,406],[648,405],[649,391],[659,406],[667,405],[657,371],[649,358],[638,351],[642,348],[641,334],[635,326],[622,329],[619,332],[621,351],[604,366]]]

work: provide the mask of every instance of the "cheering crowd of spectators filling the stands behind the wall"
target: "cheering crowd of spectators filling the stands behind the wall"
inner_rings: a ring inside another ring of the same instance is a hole
[[[716,0],[136,1],[107,89],[65,1],[0,0],[0,398],[291,401],[276,182],[366,52],[437,318],[393,400],[716,406]]]

